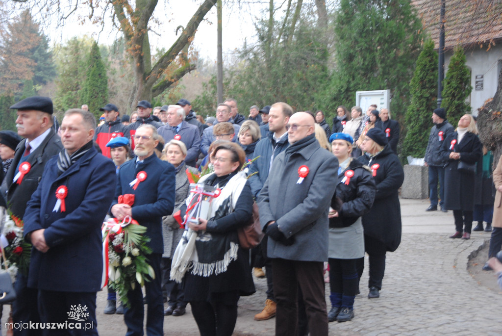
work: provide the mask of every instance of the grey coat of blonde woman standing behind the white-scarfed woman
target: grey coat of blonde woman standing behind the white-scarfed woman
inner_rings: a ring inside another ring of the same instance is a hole
[[[187,168],[195,174],[199,173],[196,168],[187,166],[184,163],[183,167],[181,167],[176,173],[176,191],[173,214],[185,204],[185,200],[190,193],[190,182],[188,182],[186,174]],[[183,231],[183,229],[179,228],[179,225],[173,215],[162,217],[162,238],[164,240],[164,253],[162,254],[162,258],[172,258],[174,250],[176,250],[176,247],[180,242],[181,235],[183,235]]]

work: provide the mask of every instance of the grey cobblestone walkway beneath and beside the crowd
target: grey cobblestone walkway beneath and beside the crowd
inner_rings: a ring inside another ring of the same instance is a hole
[[[479,286],[466,270],[469,255],[489,239],[489,233],[473,233],[469,241],[448,239],[454,232],[451,211],[425,212],[427,200],[402,199],[401,206],[403,238],[399,249],[387,254],[380,298],[367,299],[365,273],[354,319],[329,323],[329,334],[502,335],[500,292]],[[263,308],[266,290],[265,279],[255,280],[257,293],[239,301],[234,335],[274,335],[275,319],[253,320]],[[328,286],[326,294],[329,309]],[[98,293],[99,333],[125,334],[121,315],[101,313],[105,300],[106,293]],[[189,307],[184,316],[165,318],[165,335],[199,334]]]

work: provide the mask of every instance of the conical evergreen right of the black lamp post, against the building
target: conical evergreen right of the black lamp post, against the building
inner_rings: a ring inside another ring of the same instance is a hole
[[[460,45],[456,46],[448,64],[441,101],[441,107],[446,110],[450,122],[457,122],[471,110],[470,105],[465,102],[472,90],[470,70],[465,61],[463,48]]]

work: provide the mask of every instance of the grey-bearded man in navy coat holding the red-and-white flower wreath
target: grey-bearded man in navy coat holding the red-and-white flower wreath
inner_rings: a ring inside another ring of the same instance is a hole
[[[155,279],[145,282],[147,297],[147,334],[164,335],[164,303],[161,289],[160,262],[164,252],[162,239],[162,216],[170,215],[174,208],[175,172],[168,162],[161,161],[154,153],[159,143],[157,129],[152,125],[140,126],[134,135],[136,154],[120,166],[111,213],[122,220],[125,216],[136,219],[147,228],[146,236],[150,238],[149,246],[153,253],[148,262],[155,271]],[[138,180],[136,180],[138,179]],[[136,180],[136,181],[135,181]],[[135,183],[131,183],[135,181]],[[137,185],[136,183],[139,182]],[[133,187],[136,185],[136,189]],[[134,204],[118,203],[118,196],[134,194]],[[129,336],[143,335],[144,306],[141,286],[136,282],[133,290],[128,292],[131,307],[124,308],[124,321]]]

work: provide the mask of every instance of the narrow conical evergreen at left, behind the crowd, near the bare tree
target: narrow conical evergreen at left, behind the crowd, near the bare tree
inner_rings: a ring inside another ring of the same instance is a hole
[[[91,52],[87,60],[87,73],[82,84],[80,101],[89,105],[97,119],[101,115],[99,108],[108,102],[108,77],[101,59],[97,42],[92,43]]]

